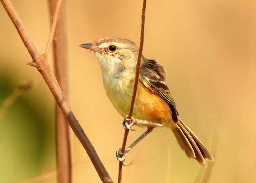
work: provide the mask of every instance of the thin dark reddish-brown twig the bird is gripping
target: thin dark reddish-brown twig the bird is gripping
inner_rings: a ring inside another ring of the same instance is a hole
[[[138,60],[137,60],[137,65],[136,65],[136,75],[135,75],[135,80],[134,80],[133,96],[132,96],[132,100],[131,100],[129,115],[127,117],[128,119],[131,119],[132,115],[133,115],[134,102],[135,102],[135,97],[136,97],[137,87],[138,87],[138,82],[139,82],[140,63],[141,63],[142,50],[143,50],[143,44],[144,44],[146,4],[147,4],[147,1],[143,0],[143,8],[142,8],[142,15],[141,15],[140,49],[139,49]],[[124,136],[123,136],[122,154],[124,154],[124,151],[125,151],[128,134],[129,134],[129,130],[126,129],[124,132]],[[123,162],[119,162],[118,183],[122,182],[122,168],[123,168]]]

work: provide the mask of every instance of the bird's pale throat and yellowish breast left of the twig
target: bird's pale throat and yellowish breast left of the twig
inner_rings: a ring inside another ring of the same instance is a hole
[[[107,96],[117,109],[125,116],[129,112],[135,72],[127,60],[96,54],[102,71],[103,85]]]

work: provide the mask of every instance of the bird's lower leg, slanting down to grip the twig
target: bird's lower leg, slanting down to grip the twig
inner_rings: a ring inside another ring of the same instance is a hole
[[[127,153],[137,144],[139,143],[144,137],[146,137],[150,132],[152,132],[154,129],[154,127],[148,127],[147,131],[144,132],[137,140],[135,140],[129,147],[127,147],[124,151],[124,154],[122,153],[122,149],[120,148],[117,152],[116,152],[116,158],[118,161],[124,162]],[[132,162],[131,162],[132,163]],[[130,164],[131,164],[130,163]],[[125,164],[123,163],[124,166],[128,166],[130,164]]]

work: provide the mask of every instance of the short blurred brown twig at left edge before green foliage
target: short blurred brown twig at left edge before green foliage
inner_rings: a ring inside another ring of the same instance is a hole
[[[4,120],[8,108],[16,101],[20,94],[25,90],[30,89],[32,85],[32,81],[20,83],[19,86],[4,100],[2,108],[0,109],[0,123]]]

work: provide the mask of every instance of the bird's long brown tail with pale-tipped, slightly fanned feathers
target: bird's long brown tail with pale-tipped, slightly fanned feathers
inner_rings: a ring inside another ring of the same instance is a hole
[[[214,161],[209,150],[203,146],[196,135],[182,122],[181,119],[178,119],[176,124],[177,126],[172,128],[172,131],[177,138],[178,144],[189,158],[196,159],[201,165],[206,164],[206,159]]]

